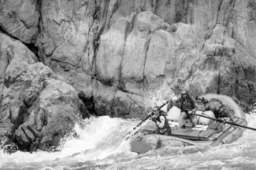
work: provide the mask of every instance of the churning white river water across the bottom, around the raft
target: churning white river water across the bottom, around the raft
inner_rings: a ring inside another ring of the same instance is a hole
[[[247,121],[256,128],[256,114],[247,114]],[[3,154],[0,150],[0,169],[256,169],[256,132],[252,130],[222,146],[170,146],[135,154],[123,136],[138,123],[107,116],[90,118],[76,125],[80,138],[65,138],[59,152]]]

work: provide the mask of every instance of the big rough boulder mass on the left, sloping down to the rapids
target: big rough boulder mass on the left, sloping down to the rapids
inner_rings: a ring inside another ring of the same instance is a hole
[[[0,82],[0,142],[11,139],[24,151],[52,150],[80,116],[90,115],[76,90],[34,60],[24,44],[0,37],[8,61]]]

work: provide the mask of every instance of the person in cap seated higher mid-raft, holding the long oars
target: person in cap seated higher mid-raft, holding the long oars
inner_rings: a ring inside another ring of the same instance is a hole
[[[176,106],[180,108],[180,118],[178,121],[178,128],[183,126],[183,120],[188,118],[192,123],[192,128],[197,125],[195,111],[197,109],[195,99],[188,94],[186,91],[182,91],[180,93],[180,98],[176,99],[175,101],[171,100],[168,103],[167,110],[169,111],[170,108]]]

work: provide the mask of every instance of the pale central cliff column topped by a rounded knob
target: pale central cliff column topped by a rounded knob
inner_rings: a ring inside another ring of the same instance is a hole
[[[163,20],[153,13],[144,12],[135,16],[133,30],[125,42],[121,64],[121,85],[125,91],[143,96],[144,69],[151,36],[163,27]]]

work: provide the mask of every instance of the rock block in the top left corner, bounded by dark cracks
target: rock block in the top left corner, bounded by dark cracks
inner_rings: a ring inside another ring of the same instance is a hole
[[[39,2],[35,0],[0,1],[2,30],[21,42],[35,43],[39,30]]]

